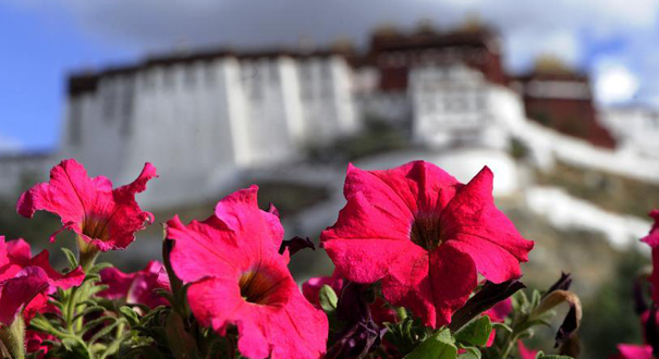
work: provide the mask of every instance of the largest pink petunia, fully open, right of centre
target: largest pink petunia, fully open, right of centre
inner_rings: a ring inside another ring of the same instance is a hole
[[[524,239],[492,199],[485,168],[468,184],[431,163],[387,171],[349,165],[347,203],[320,240],[350,281],[381,281],[385,298],[426,325],[451,321],[477,286],[522,275],[533,242]]]

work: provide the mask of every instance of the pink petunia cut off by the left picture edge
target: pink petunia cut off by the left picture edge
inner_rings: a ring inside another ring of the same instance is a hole
[[[0,325],[11,325],[19,313],[26,321],[47,306],[47,296],[56,288],[80,285],[85,278],[81,268],[63,275],[50,267],[48,251],[32,258],[23,239],[4,242],[0,236]]]

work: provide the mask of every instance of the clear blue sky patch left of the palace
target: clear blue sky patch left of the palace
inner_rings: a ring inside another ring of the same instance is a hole
[[[5,147],[56,147],[66,73],[136,53],[94,41],[57,7],[46,15],[0,3],[0,149],[3,139]]]

